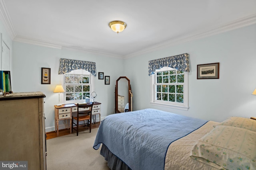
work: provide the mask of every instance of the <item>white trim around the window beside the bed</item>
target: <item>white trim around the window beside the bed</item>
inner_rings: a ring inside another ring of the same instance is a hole
[[[166,70],[175,70],[174,68],[170,68],[170,67],[163,67],[157,71],[166,71]],[[156,74],[156,73],[155,73]],[[154,74],[154,75],[155,75]],[[173,105],[173,104],[164,104],[164,103],[159,103],[159,102],[155,102],[154,100],[154,75],[150,75],[150,104],[153,106],[160,106],[160,107],[168,107],[168,108],[172,108],[172,109],[180,109],[180,110],[186,110],[188,111],[188,72],[184,72],[184,84],[186,84],[184,90],[184,104],[182,106],[180,105]]]

